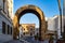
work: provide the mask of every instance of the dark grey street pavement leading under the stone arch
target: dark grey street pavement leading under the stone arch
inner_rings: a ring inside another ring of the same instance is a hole
[[[34,37],[22,38],[21,40],[11,40],[4,43],[40,43],[40,41],[35,40]],[[41,41],[41,43],[48,43],[47,41]]]

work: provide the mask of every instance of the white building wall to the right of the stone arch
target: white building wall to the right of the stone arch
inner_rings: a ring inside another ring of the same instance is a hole
[[[57,39],[62,38],[60,15],[56,15],[56,16],[48,19],[48,30],[56,31]]]

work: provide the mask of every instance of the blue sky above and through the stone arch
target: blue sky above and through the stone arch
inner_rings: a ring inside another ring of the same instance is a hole
[[[61,6],[63,8],[63,0],[61,1]],[[14,14],[21,6],[26,4],[32,4],[41,9],[44,13],[46,17],[53,17],[54,15],[58,15],[58,5],[57,0],[14,0]],[[32,19],[31,19],[32,18]],[[39,19],[36,15],[31,13],[27,13],[23,17],[21,17],[21,24],[35,23],[36,26],[39,25]]]

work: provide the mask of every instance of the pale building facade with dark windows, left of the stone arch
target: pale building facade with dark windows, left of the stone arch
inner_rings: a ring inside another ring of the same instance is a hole
[[[0,0],[0,34],[12,34],[13,0]]]

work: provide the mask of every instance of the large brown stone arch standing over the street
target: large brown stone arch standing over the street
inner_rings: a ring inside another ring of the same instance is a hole
[[[16,35],[18,35],[20,18],[25,13],[34,13],[40,19],[39,35],[40,35],[41,40],[44,40],[46,39],[46,30],[47,30],[44,14],[38,6],[35,6],[35,5],[25,5],[25,6],[20,8],[16,11],[15,16],[13,18],[13,39],[16,39]]]

